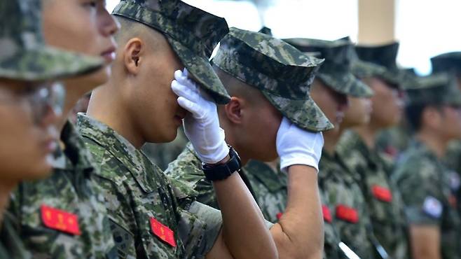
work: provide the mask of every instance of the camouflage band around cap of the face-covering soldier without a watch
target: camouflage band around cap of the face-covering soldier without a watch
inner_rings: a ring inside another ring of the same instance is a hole
[[[312,76],[308,80],[304,80],[300,85],[292,85],[289,82],[284,82],[284,80],[271,78],[260,71],[256,71],[251,65],[245,66],[242,62],[236,60],[235,57],[236,55],[226,53],[225,50],[220,48],[216,56],[212,59],[212,63],[218,66],[219,69],[226,71],[248,85],[289,99],[305,99],[310,89],[310,84],[315,78],[315,71],[319,69],[319,66],[313,66],[311,69]]]

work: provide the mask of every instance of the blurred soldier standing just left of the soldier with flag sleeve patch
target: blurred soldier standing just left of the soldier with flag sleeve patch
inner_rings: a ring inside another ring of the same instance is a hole
[[[390,181],[392,164],[374,146],[378,131],[396,125],[401,118],[401,94],[396,88],[399,81],[395,80],[401,74],[395,65],[397,49],[397,43],[356,47],[359,58],[382,64],[385,70],[362,75],[357,72],[357,76],[375,91],[371,98],[373,111],[369,123],[341,136],[337,151],[348,169],[357,173],[376,238],[390,257],[408,258],[404,204],[399,190]]]

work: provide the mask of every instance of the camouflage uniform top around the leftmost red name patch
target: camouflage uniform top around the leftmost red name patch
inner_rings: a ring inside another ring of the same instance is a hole
[[[20,183],[11,196],[9,210],[18,219],[20,237],[34,258],[116,258],[92,158],[70,123],[61,141],[65,148],[55,153],[53,174]],[[43,205],[74,214],[80,235],[46,225]]]

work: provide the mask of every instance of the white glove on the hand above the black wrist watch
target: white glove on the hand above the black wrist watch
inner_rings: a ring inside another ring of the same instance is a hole
[[[178,104],[190,113],[184,118],[184,133],[202,162],[216,164],[226,158],[229,148],[219,127],[218,109],[209,95],[188,79],[188,71],[174,72],[171,87]]]

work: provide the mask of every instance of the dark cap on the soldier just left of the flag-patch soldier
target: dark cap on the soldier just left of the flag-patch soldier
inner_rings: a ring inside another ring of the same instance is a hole
[[[392,86],[400,87],[401,71],[397,67],[399,43],[376,46],[357,45],[355,51],[359,59],[385,67],[385,73],[377,75],[378,78],[385,80]]]

